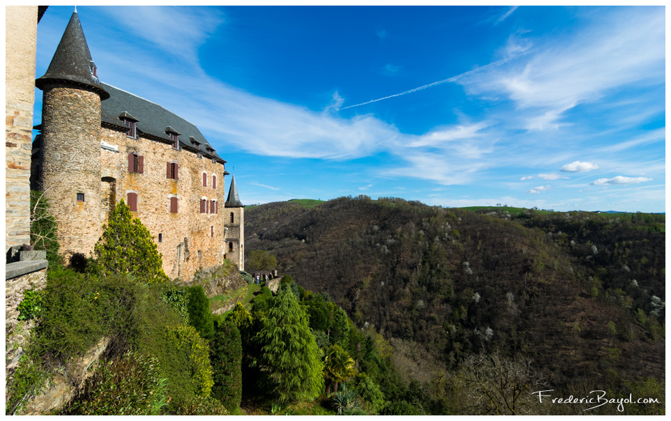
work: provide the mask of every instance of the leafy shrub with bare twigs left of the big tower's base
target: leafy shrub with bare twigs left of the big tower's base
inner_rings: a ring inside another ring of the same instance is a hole
[[[53,267],[61,263],[59,256],[58,224],[56,218],[49,212],[49,200],[44,192],[31,190],[30,192],[30,243],[36,250],[47,251],[47,261]]]

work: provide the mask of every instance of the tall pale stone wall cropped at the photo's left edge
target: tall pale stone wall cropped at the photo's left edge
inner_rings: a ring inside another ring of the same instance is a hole
[[[30,240],[37,6],[5,8],[5,252]]]

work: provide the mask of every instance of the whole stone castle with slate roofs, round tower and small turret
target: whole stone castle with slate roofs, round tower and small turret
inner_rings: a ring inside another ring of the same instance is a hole
[[[244,268],[244,208],[226,161],[198,128],[100,82],[77,11],[36,86],[43,93],[31,188],[59,224],[61,253],[90,255],[123,199],[163,254],[171,278],[229,259]]]

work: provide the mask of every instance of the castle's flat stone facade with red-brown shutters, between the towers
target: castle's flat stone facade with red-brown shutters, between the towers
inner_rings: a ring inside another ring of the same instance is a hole
[[[137,212],[149,229],[163,254],[163,270],[174,279],[190,281],[198,268],[211,268],[224,258],[224,166],[206,158],[197,158],[190,151],[177,151],[171,144],[139,137],[126,132],[103,128],[101,140],[116,146],[119,152],[100,148],[102,169],[101,197],[128,204],[128,193],[137,194]],[[143,174],[128,171],[128,154],[144,157]],[[167,163],[179,164],[178,177],[167,178]],[[207,174],[207,187],[202,186],[202,174]],[[212,176],[217,176],[217,188],[212,188]],[[177,197],[178,212],[170,213],[170,198]],[[218,213],[200,213],[200,200],[219,203]],[[107,199],[106,199],[107,200]],[[105,209],[101,211],[105,222]],[[161,242],[158,236],[161,234]],[[213,236],[212,236],[213,234]]]

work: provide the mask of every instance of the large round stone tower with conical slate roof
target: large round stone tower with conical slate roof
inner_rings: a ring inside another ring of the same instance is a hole
[[[76,11],[36,86],[44,91],[39,184],[58,222],[61,254],[88,255],[102,231],[100,101],[110,94],[98,81]]]

